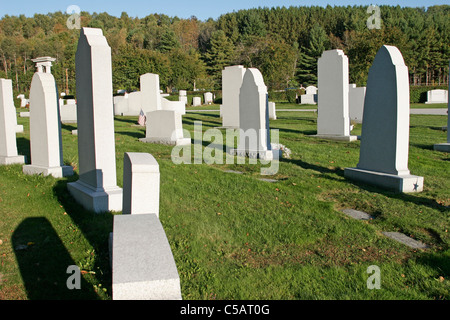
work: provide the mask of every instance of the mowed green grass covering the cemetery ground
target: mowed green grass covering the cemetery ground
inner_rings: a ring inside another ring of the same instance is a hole
[[[262,176],[268,165],[248,160],[175,165],[172,147],[138,141],[145,128],[135,126],[137,117],[115,118],[118,185],[124,152],[147,152],[159,163],[160,220],[183,299],[448,299],[450,163],[447,153],[433,151],[446,141],[447,118],[411,116],[409,168],[425,178],[419,194],[346,180],[344,168],[358,163],[360,143],[311,137],[316,113],[278,112],[277,118],[271,128],[292,154],[274,176]],[[204,148],[211,141],[198,139],[196,121],[204,132],[220,127],[221,119],[218,112],[183,116],[184,128]],[[28,120],[19,124],[25,127],[17,134],[19,152],[29,156]],[[75,128],[63,125],[62,132],[64,160],[77,172]],[[353,134],[360,132],[356,125]],[[0,299],[111,299],[108,237],[120,212],[84,210],[66,189],[76,179],[0,167]],[[354,220],[343,208],[374,219]],[[403,232],[429,248],[411,249],[384,231]],[[66,286],[73,264],[82,270],[81,290]],[[367,288],[372,265],[380,268],[380,290]]]

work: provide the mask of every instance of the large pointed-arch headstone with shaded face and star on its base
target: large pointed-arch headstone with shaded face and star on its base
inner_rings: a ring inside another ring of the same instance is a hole
[[[396,47],[385,45],[367,80],[359,163],[346,168],[345,177],[397,192],[422,191],[423,177],[408,169],[409,117],[408,67]]]

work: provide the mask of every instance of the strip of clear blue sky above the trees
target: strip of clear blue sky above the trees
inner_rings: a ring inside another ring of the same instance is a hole
[[[4,15],[20,15],[27,17],[35,13],[47,14],[55,11],[66,11],[70,5],[77,5],[82,11],[90,13],[107,12],[113,16],[120,16],[122,12],[127,12],[131,17],[145,17],[153,13],[163,13],[168,16],[178,16],[189,18],[196,16],[200,20],[208,18],[217,19],[221,14],[237,11],[240,9],[250,9],[257,7],[277,7],[277,6],[326,6],[326,5],[400,5],[402,7],[429,7],[432,5],[449,4],[448,0],[1,0],[0,17]]]

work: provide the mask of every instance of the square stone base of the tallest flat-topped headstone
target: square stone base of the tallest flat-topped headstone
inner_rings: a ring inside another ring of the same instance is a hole
[[[122,211],[122,189],[110,187],[108,189],[94,189],[81,181],[67,184],[72,197],[87,210],[96,213],[108,211]]]

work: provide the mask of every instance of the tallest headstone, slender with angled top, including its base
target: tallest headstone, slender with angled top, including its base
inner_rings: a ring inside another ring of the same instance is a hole
[[[75,56],[79,180],[72,196],[94,212],[121,211],[117,186],[111,48],[101,29],[82,28]]]

